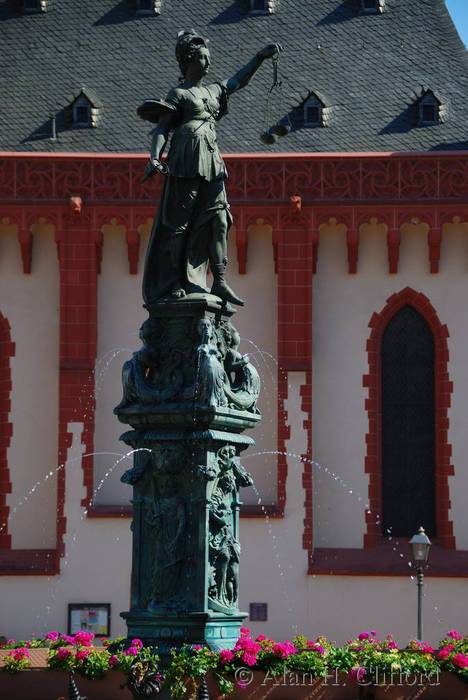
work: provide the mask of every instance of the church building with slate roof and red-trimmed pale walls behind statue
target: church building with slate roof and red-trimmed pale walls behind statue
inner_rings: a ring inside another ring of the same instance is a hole
[[[124,629],[130,457],[112,409],[162,184],[141,183],[135,109],[169,89],[188,16],[214,80],[266,36],[285,47],[277,104],[264,67],[219,130],[234,322],[263,381],[241,607],[277,637],[407,641],[423,525],[426,635],[462,628],[468,64],[445,3],[106,0],[80,18],[65,4],[1,10],[16,89],[0,120],[0,632],[64,629],[80,602],[111,603],[111,634]],[[266,153],[275,123],[289,133]]]

